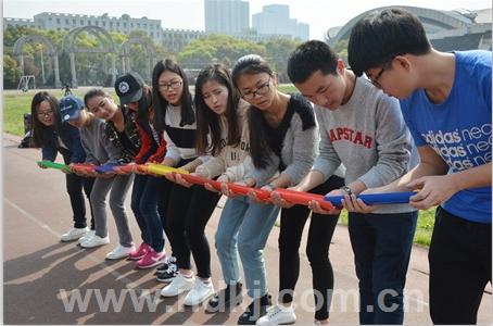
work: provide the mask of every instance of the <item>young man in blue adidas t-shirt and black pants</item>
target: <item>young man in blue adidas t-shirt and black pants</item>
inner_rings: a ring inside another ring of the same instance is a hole
[[[476,324],[492,272],[491,52],[439,52],[418,17],[391,9],[354,26],[349,61],[356,75],[365,72],[401,100],[421,159],[378,190],[419,187],[412,205],[440,205],[429,251],[431,318]]]

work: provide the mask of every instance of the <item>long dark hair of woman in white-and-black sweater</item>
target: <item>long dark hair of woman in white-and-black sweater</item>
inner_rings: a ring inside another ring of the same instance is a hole
[[[154,103],[154,116],[155,116],[155,128],[159,131],[163,131],[165,128],[166,108],[169,104],[168,101],[163,99],[160,95],[160,88],[157,85],[157,78],[162,73],[169,71],[181,77],[184,80],[181,92],[180,105],[181,105],[181,121],[180,126],[191,125],[195,122],[195,113],[192,106],[192,96],[188,89],[188,78],[184,70],[173,60],[165,59],[161,60],[154,65],[152,71],[152,102]]]

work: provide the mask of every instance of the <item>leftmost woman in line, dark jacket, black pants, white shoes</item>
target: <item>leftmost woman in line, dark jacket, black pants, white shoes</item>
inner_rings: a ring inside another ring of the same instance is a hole
[[[60,152],[65,164],[81,163],[86,153],[80,145],[79,130],[69,124],[62,124],[59,101],[47,92],[37,92],[30,103],[33,117],[33,142],[41,147],[42,160],[54,161]],[[43,168],[43,166],[40,166]],[[84,178],[76,174],[66,174],[66,191],[71,199],[74,214],[74,227],[61,237],[62,241],[77,240],[89,233],[86,223],[86,202],[84,192],[90,202],[90,193],[94,178]],[[91,229],[94,229],[94,218],[91,210]]]

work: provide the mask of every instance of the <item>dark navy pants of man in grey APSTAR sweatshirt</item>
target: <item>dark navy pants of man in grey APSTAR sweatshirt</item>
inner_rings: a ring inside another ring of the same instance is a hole
[[[403,291],[417,216],[417,212],[349,214],[362,325],[403,324]]]

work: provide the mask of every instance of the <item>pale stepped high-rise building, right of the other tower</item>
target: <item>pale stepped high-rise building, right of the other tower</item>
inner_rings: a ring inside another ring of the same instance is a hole
[[[258,34],[283,35],[302,40],[309,38],[309,25],[290,18],[287,4],[264,5],[262,12],[252,16],[252,27]]]

